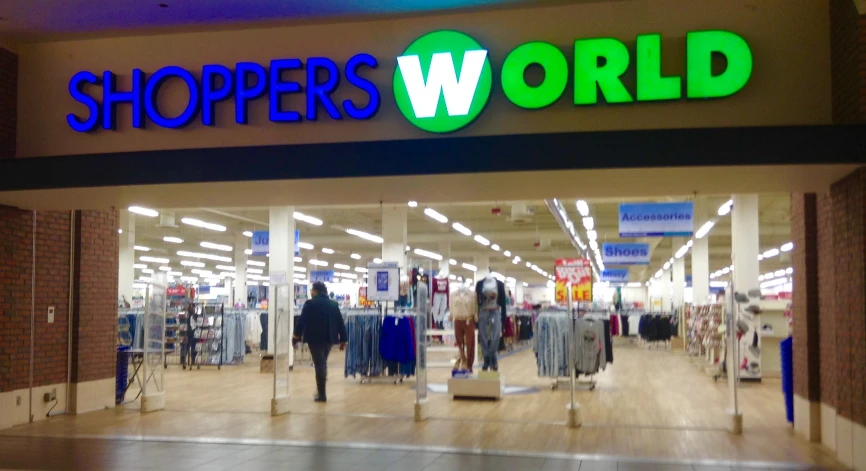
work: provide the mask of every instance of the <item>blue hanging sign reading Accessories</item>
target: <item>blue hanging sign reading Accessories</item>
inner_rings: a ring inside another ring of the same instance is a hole
[[[694,203],[623,203],[620,237],[690,237],[695,231]]]

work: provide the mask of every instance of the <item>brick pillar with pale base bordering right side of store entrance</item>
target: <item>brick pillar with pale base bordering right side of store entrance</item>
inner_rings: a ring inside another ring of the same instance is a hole
[[[821,439],[817,219],[815,194],[791,195],[791,241],[794,243],[794,429],[810,441]]]

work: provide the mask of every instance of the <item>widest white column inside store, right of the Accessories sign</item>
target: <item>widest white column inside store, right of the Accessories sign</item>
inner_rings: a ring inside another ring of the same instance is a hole
[[[731,245],[734,289],[746,293],[758,285],[758,195],[733,195]]]

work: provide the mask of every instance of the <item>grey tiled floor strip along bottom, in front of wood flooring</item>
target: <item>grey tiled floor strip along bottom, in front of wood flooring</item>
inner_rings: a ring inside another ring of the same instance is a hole
[[[193,434],[195,431],[191,431]],[[41,437],[0,438],[0,470],[580,470],[733,471],[807,469],[802,465],[757,462],[636,461],[602,456],[485,454],[471,450],[297,447],[242,441],[199,443]]]

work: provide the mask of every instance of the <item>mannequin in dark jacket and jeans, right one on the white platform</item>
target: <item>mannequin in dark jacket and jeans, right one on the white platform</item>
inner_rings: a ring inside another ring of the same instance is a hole
[[[499,371],[499,340],[506,317],[505,283],[488,274],[475,285],[478,297],[478,339],[484,356],[483,371]]]

